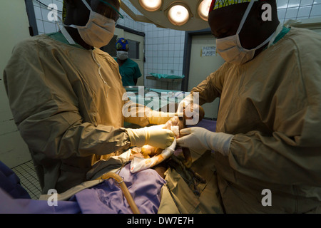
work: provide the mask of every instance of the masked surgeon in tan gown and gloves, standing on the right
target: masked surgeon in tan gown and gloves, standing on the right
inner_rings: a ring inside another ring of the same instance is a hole
[[[320,213],[321,36],[280,26],[275,0],[255,1],[246,16],[249,2],[212,2],[226,62],[192,91],[200,105],[220,98],[216,133],[183,129],[178,145],[215,150],[222,212]]]

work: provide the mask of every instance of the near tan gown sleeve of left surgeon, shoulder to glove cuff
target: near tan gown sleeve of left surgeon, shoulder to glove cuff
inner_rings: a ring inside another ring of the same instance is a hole
[[[131,142],[125,128],[83,120],[65,69],[54,58],[56,53],[43,45],[20,43],[4,70],[14,121],[29,148],[54,159],[128,148]]]

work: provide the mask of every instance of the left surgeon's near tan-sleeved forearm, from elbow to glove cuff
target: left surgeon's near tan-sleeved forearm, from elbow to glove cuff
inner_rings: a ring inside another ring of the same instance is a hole
[[[19,130],[32,150],[54,159],[106,155],[130,146],[125,128],[81,122],[80,116],[72,112],[50,118],[34,115],[20,123]]]

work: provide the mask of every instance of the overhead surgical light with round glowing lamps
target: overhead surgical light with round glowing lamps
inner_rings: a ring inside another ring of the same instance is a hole
[[[196,31],[210,27],[208,25],[208,8],[211,0],[127,1],[121,1],[121,9],[134,21],[155,24],[158,28],[180,31]],[[134,8],[128,7],[130,4]],[[134,12],[132,9],[137,9],[139,12]]]

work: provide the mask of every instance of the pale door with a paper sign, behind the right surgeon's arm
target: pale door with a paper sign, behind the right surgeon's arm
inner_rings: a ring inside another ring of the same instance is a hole
[[[193,36],[190,51],[190,69],[188,78],[188,91],[198,86],[210,73],[216,71],[224,63],[220,55],[213,53],[215,38],[212,34]],[[202,105],[205,118],[218,118],[219,98],[212,103]]]

